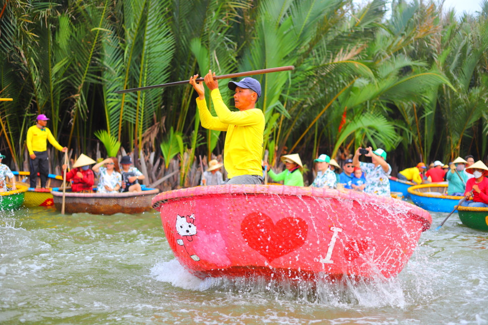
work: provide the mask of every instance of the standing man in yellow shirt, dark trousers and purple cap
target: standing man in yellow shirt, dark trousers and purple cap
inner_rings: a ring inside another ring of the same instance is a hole
[[[37,183],[37,173],[41,178],[41,188],[46,187],[47,175],[49,174],[49,160],[47,157],[48,140],[56,149],[66,152],[67,147],[62,147],[54,138],[51,131],[46,128],[49,119],[40,114],[37,116],[37,124],[27,130],[27,150],[30,154],[30,187],[35,188]]]

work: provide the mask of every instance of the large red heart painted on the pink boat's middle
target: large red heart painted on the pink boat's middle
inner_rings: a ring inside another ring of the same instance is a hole
[[[248,245],[269,262],[302,246],[307,239],[308,225],[300,218],[283,218],[276,225],[264,213],[253,212],[240,224]]]

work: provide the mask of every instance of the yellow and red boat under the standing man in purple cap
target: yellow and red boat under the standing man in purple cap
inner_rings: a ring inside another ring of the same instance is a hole
[[[47,175],[46,187],[47,190],[40,189],[40,177],[37,177],[37,187],[32,188],[29,184],[29,172],[12,172],[15,175],[17,184],[26,186],[28,189],[25,192],[24,207],[54,207],[53,194],[51,194],[52,187],[60,187],[63,185],[63,177],[54,174]],[[39,175],[39,173],[37,173]],[[68,183],[69,184],[69,183]]]

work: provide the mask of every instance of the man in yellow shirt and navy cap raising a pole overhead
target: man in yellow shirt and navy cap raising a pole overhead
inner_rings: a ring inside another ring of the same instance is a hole
[[[190,78],[190,84],[197,91],[197,106],[202,126],[206,129],[227,131],[224,145],[224,167],[227,170],[225,184],[263,184],[261,157],[263,154],[264,114],[255,107],[261,96],[261,84],[253,78],[239,82],[229,82],[235,91],[234,102],[239,112],[231,112],[222,101],[219,83],[212,71],[205,76],[205,84],[210,89],[217,117],[212,116],[205,100],[202,82]]]

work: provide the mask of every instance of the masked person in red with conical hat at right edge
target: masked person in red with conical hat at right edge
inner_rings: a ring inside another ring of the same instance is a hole
[[[474,177],[466,183],[464,196],[468,196],[471,190],[473,190],[473,194],[462,202],[461,206],[488,207],[488,179],[485,177],[488,176],[488,167],[481,160],[478,160],[466,168],[466,172]]]

